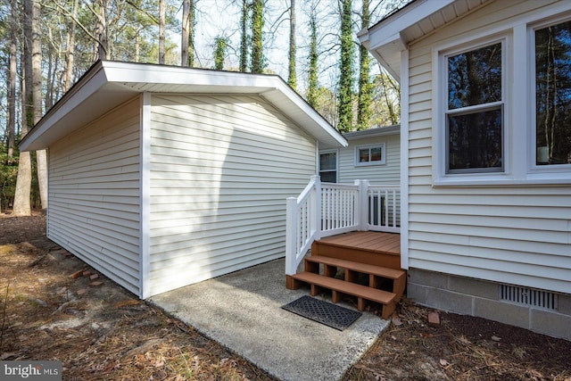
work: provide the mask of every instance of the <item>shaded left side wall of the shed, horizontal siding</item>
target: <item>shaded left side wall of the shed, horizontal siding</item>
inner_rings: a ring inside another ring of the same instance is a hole
[[[139,294],[139,101],[49,149],[47,236]]]

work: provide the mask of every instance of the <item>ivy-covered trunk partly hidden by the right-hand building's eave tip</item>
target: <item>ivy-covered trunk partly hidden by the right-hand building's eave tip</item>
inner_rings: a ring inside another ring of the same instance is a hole
[[[368,11],[368,0],[363,0],[363,10],[360,16],[361,28],[368,28],[370,13]],[[367,129],[371,123],[371,99],[373,89],[368,75],[370,72],[370,56],[365,46],[359,48],[359,102],[357,105],[357,129]]]

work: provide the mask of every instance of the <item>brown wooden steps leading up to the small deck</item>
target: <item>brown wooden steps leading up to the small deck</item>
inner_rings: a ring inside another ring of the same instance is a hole
[[[360,249],[352,249],[356,253]],[[327,256],[323,251],[321,255],[312,255],[305,258],[305,271],[293,276],[286,276],[286,286],[289,289],[297,289],[303,284],[310,285],[310,294],[315,296],[324,291],[331,290],[332,302],[341,301],[343,294],[357,298],[357,309],[363,311],[366,302],[377,302],[383,305],[382,317],[388,319],[393,313],[396,304],[401,300],[406,286],[406,272],[402,269],[394,269],[377,264],[363,263],[344,258],[353,258],[359,255],[339,258]],[[343,279],[335,277],[337,272],[343,269]],[[364,280],[365,285],[358,283]],[[390,291],[381,289],[385,283]]]

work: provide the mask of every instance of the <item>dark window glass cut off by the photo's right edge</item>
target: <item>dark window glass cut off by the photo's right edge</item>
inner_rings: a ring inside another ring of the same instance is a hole
[[[535,31],[536,163],[571,163],[571,21]]]

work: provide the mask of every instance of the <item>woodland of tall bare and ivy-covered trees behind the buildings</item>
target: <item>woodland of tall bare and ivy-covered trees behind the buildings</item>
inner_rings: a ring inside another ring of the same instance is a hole
[[[397,124],[400,88],[357,33],[407,0],[0,0],[0,213],[45,209],[18,143],[97,60],[280,75],[340,132]]]

